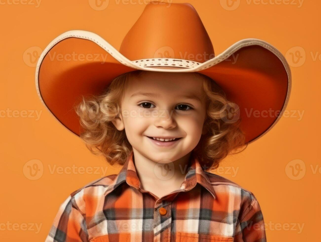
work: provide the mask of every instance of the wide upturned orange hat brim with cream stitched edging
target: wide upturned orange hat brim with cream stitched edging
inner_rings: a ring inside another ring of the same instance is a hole
[[[228,100],[240,107],[240,128],[249,143],[277,123],[291,91],[287,61],[263,40],[240,40],[194,67],[145,67],[127,59],[99,35],[74,30],[58,36],[40,55],[37,93],[56,119],[79,136],[81,126],[74,105],[81,96],[102,94],[111,80],[134,70],[199,72],[209,76]]]

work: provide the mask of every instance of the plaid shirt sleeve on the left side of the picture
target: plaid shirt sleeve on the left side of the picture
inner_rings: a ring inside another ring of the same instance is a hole
[[[60,205],[45,242],[89,242],[85,214],[70,195]]]

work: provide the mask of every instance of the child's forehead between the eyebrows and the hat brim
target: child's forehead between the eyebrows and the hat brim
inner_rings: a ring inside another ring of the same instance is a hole
[[[143,71],[139,76],[128,78],[125,95],[137,91],[157,94],[203,94],[203,79],[194,73]]]

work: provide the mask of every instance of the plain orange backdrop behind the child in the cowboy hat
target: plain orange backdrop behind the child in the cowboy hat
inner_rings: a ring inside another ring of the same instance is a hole
[[[35,67],[30,67],[26,61],[28,54],[25,52],[30,47],[45,49],[51,40],[69,30],[95,32],[119,49],[123,37],[145,6],[143,0],[120,4],[109,0],[106,9],[97,11],[91,8],[90,1],[47,0],[36,7],[1,0],[0,110],[42,111],[39,120],[8,115],[0,118],[1,241],[44,241],[58,207],[71,192],[120,169],[109,167],[103,158],[93,156],[82,141],[58,123],[40,103],[34,81]],[[298,0],[294,5],[285,4],[286,0],[273,4],[277,1],[280,0],[255,4],[241,0],[239,7],[232,11],[222,7],[224,1],[188,2],[200,15],[216,54],[245,38],[271,43],[292,66],[296,61],[291,59],[289,51],[300,51],[299,66],[291,67],[292,90],[286,108],[295,112],[296,117],[282,117],[272,130],[245,151],[226,158],[221,164],[224,172],[218,174],[255,194],[266,223],[267,241],[318,241],[321,169],[317,172],[314,169],[321,166],[321,3],[305,0],[298,7]],[[301,120],[298,112],[304,112]],[[31,180],[24,169],[33,159],[43,164],[43,173],[37,180]],[[296,176],[289,173],[293,162],[289,162],[297,159],[303,162],[299,168],[303,169],[304,164],[306,169],[299,180],[294,180]],[[106,174],[101,170],[100,174],[58,174],[48,167],[55,165],[64,168],[102,166],[108,170]],[[238,172],[233,174],[230,166]],[[16,223],[19,228],[4,225],[7,222]],[[35,225],[30,228],[30,224],[41,226],[39,232]],[[303,226],[301,232],[297,224]]]

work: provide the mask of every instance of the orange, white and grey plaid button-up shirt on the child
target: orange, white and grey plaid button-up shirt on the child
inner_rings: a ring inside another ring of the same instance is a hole
[[[118,175],[100,178],[60,206],[51,241],[266,241],[253,193],[206,172],[192,158],[178,190],[160,199],[142,189],[133,152]]]

